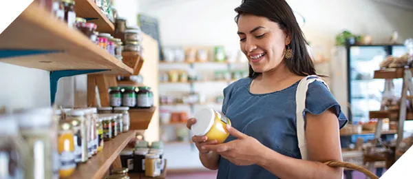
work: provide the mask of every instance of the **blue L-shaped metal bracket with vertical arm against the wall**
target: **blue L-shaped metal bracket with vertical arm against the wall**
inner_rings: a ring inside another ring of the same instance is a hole
[[[74,76],[78,74],[89,74],[94,72],[103,72],[107,70],[59,70],[50,72],[50,104],[54,104],[57,91],[57,82],[60,78],[66,76]]]

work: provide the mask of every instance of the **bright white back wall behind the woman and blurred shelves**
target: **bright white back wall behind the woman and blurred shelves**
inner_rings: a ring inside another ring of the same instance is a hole
[[[158,18],[162,45],[238,45],[233,9],[240,5],[241,0],[140,2],[140,12]],[[385,43],[393,30],[399,32],[401,42],[413,36],[410,30],[413,28],[413,12],[372,0],[288,0],[288,3],[306,18],[303,28],[306,38],[327,58],[330,58],[330,49],[335,45],[335,35],[342,30],[370,34],[373,43]],[[327,67],[317,65],[317,70],[328,75]],[[167,86],[160,86],[161,94],[162,87]],[[202,167],[193,147],[168,145],[165,152],[165,158],[170,161],[169,169]]]

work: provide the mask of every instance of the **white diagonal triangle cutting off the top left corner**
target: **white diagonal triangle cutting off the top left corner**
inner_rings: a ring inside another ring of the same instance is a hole
[[[0,34],[14,21],[33,0],[0,0]]]

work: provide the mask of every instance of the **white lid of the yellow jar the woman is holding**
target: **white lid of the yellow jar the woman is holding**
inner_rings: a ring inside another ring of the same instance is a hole
[[[211,129],[215,120],[215,112],[211,108],[205,108],[195,114],[196,123],[191,126],[195,136],[204,136]]]

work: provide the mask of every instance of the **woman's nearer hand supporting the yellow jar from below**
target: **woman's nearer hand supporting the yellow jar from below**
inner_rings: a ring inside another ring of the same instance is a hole
[[[264,147],[257,139],[242,134],[237,129],[226,126],[235,140],[218,145],[203,145],[202,149],[215,151],[235,165],[255,165],[262,158],[261,149]]]

